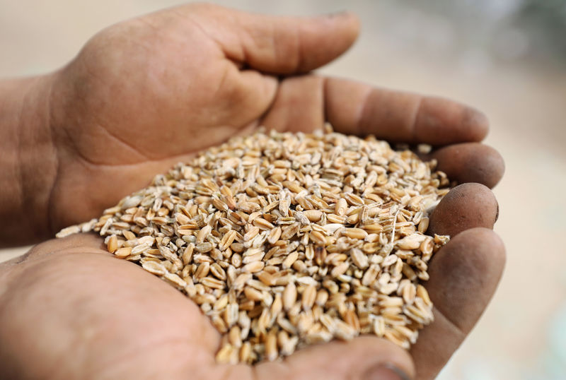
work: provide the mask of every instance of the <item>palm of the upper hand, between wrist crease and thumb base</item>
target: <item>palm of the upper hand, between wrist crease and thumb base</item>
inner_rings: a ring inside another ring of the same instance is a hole
[[[62,205],[57,227],[98,215],[154,174],[249,133],[277,112],[271,107],[281,88],[277,78],[241,70],[243,62],[207,28],[175,10],[130,20],[94,37],[62,71],[54,88],[62,111],[55,119],[64,119],[57,133],[67,154],[54,187],[54,201]],[[320,109],[307,114],[315,112]],[[71,181],[83,186],[66,194]]]

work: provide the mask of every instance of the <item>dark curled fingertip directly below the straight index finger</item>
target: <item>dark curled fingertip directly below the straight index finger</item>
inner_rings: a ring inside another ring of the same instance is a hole
[[[438,161],[438,170],[458,183],[478,182],[495,186],[505,171],[503,158],[497,150],[480,143],[461,143],[434,151],[428,159]]]

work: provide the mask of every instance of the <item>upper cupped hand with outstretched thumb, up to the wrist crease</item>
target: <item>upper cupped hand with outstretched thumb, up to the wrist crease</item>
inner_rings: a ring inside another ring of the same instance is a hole
[[[502,161],[477,143],[487,121],[474,109],[308,74],[345,52],[358,29],[349,13],[291,18],[190,4],[103,30],[53,76],[52,233],[259,126],[312,131],[329,121],[343,133],[448,146],[441,170],[494,185]]]

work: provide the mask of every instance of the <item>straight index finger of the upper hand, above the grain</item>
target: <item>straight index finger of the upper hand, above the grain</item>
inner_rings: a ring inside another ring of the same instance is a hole
[[[443,146],[481,141],[488,127],[481,112],[458,102],[339,78],[326,81],[325,110],[336,131],[371,133],[392,142]]]

